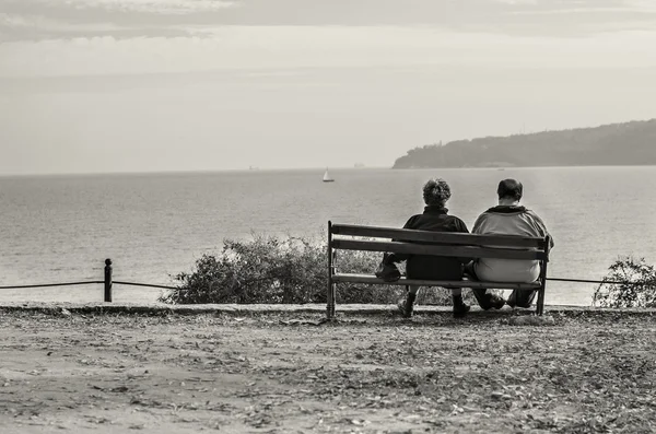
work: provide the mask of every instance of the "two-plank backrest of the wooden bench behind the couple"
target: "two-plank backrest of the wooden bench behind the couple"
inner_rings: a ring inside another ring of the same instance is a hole
[[[328,246],[331,249],[410,255],[549,260],[548,237],[460,234],[331,222],[328,222]]]

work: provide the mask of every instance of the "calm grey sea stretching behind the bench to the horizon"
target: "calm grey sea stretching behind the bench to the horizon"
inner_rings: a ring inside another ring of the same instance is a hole
[[[422,186],[452,187],[468,227],[496,204],[504,178],[555,241],[548,277],[600,280],[619,257],[656,263],[656,166],[326,168],[0,177],[0,286],[103,280],[174,285],[224,239],[326,239],[328,221],[401,226],[423,210]],[[590,305],[594,283],[551,281],[547,304]],[[114,301],[154,303],[166,290],[115,285]],[[102,302],[101,284],[0,290],[0,302]]]

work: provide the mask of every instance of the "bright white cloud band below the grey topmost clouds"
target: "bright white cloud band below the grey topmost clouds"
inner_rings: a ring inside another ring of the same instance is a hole
[[[655,68],[656,32],[511,37],[390,26],[227,26],[210,37],[93,37],[0,44],[0,75],[71,77],[237,69]]]

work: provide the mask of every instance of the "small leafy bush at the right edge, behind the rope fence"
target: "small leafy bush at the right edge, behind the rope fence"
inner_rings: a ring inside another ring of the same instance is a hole
[[[593,294],[593,306],[656,307],[656,270],[645,258],[619,257]]]

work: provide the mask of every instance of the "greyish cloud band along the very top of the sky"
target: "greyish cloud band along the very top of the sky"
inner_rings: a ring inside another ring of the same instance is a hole
[[[656,24],[654,0],[0,0],[0,9],[12,14],[0,20],[4,40],[204,37],[221,25],[430,26],[585,37]]]

